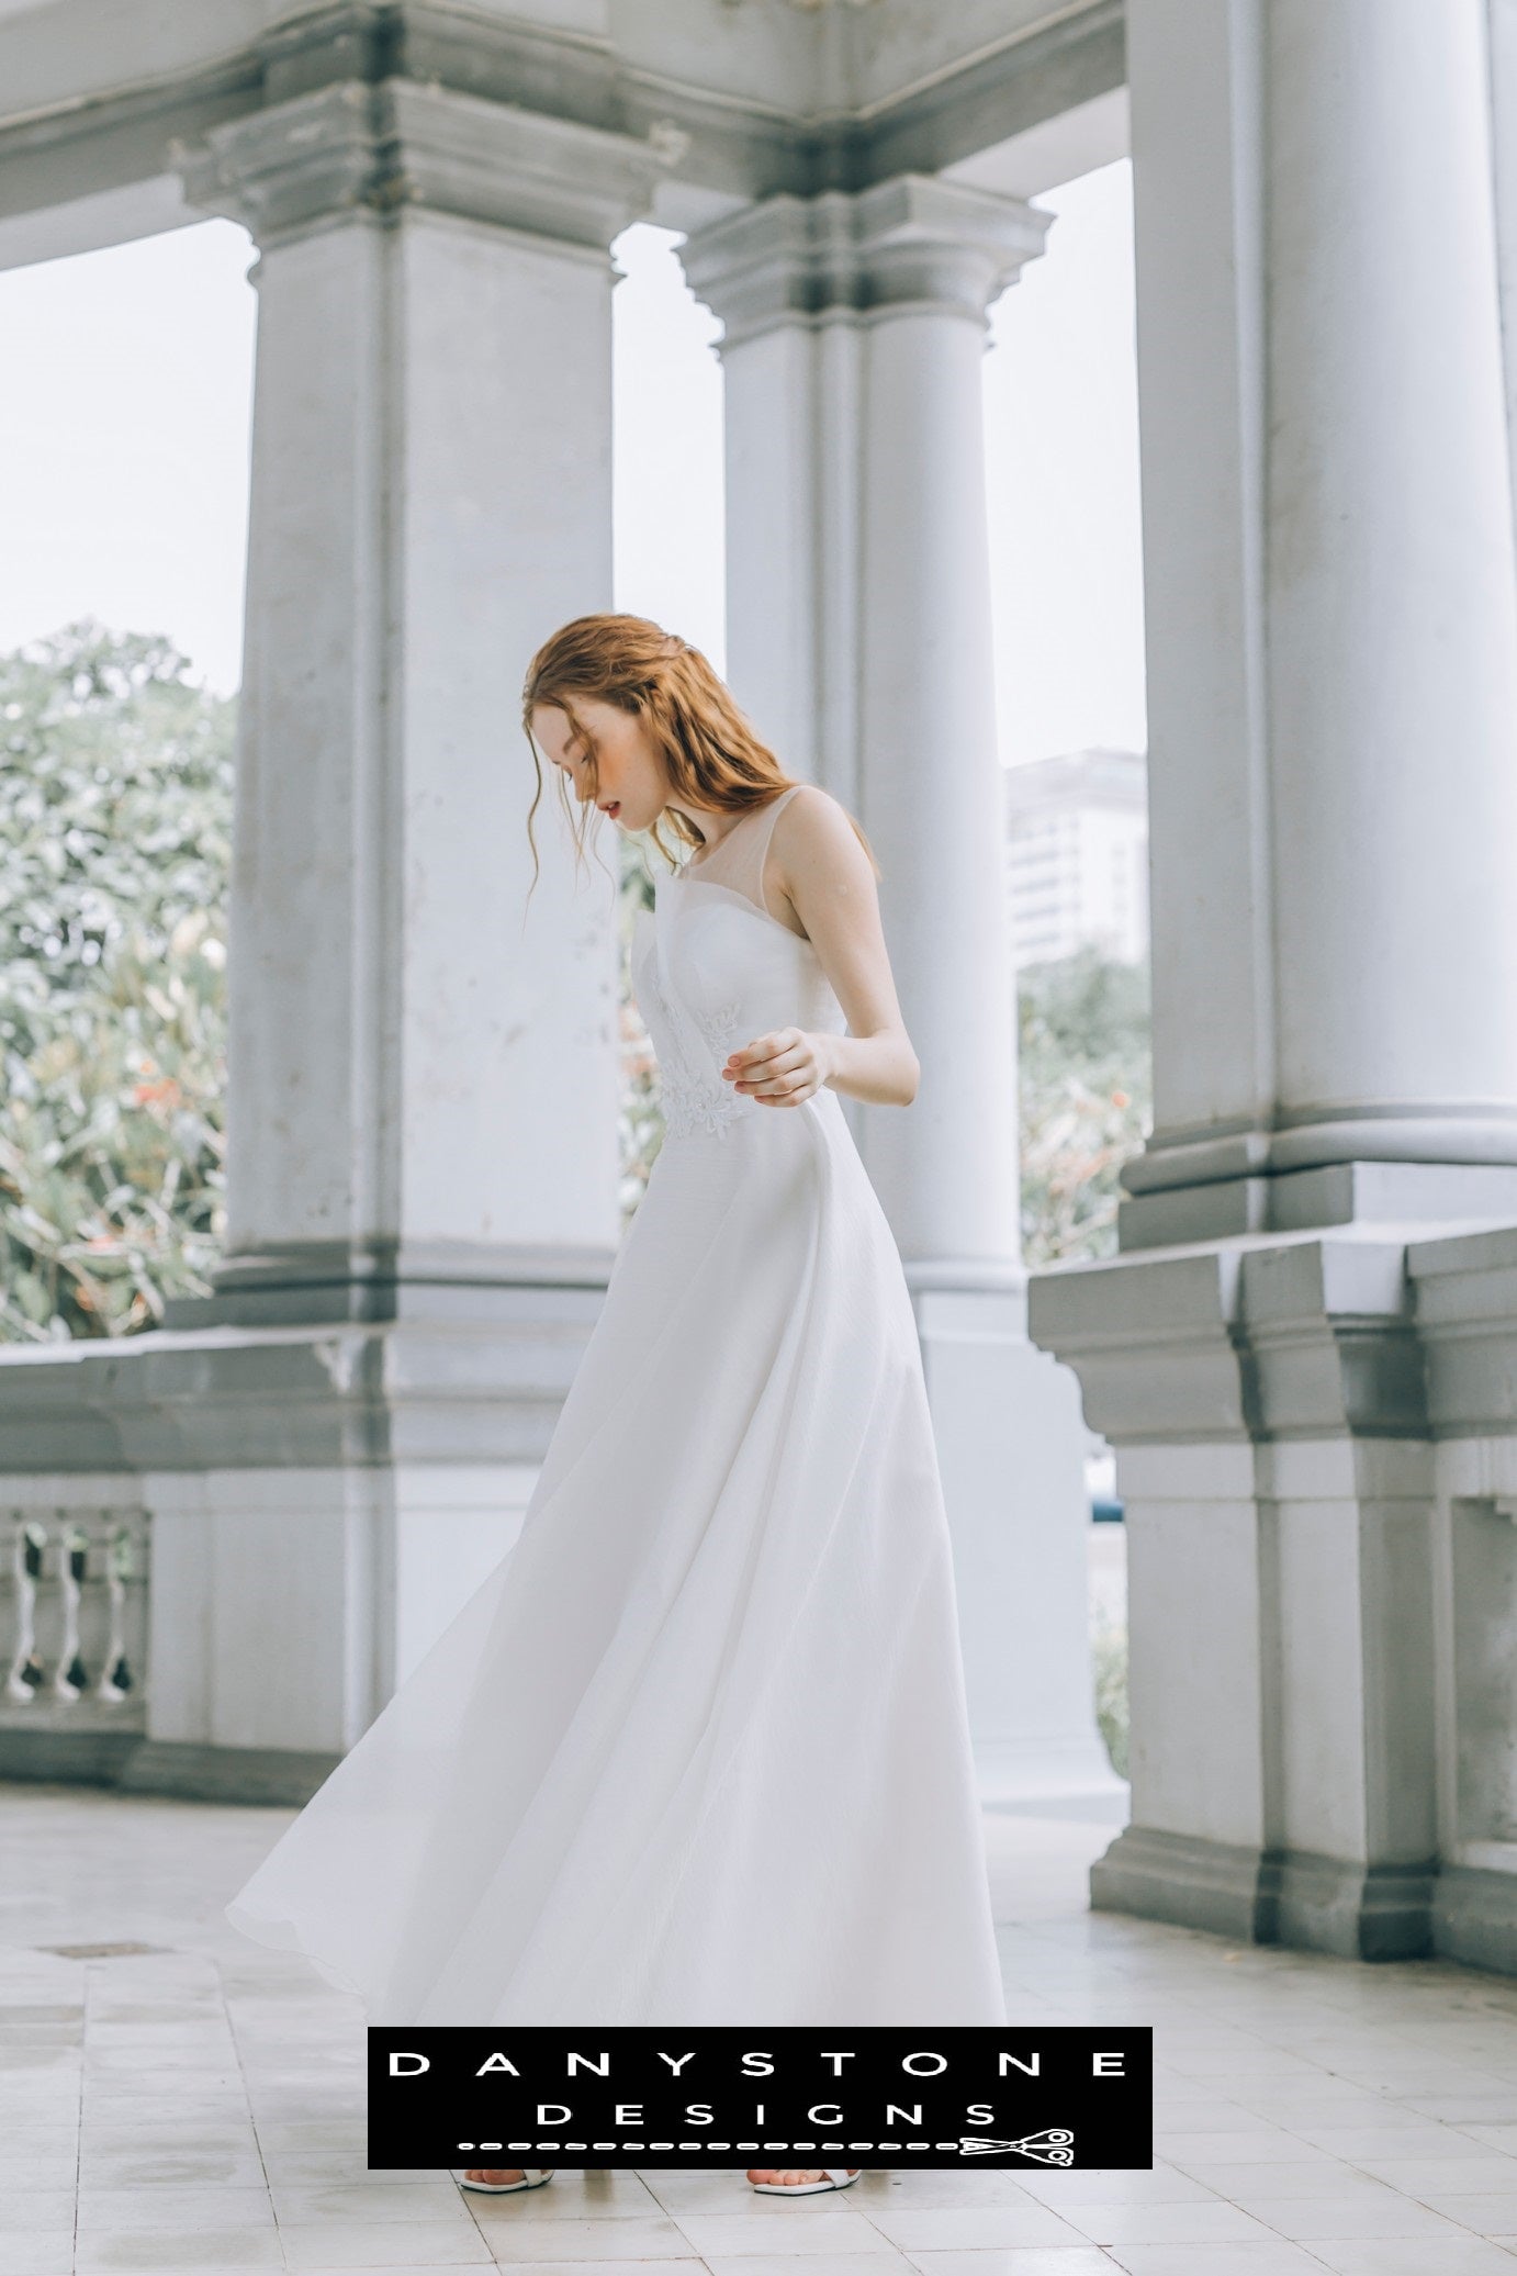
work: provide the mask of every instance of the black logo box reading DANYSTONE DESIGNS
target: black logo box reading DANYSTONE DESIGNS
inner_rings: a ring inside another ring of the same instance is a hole
[[[1146,2169],[1153,2030],[368,2030],[368,2167]]]

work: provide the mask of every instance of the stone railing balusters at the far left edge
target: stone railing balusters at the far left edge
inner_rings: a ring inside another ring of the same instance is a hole
[[[141,1730],[148,1511],[0,1504],[0,1732]]]

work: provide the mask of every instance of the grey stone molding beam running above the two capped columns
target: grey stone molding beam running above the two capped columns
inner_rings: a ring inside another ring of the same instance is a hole
[[[860,9],[860,36],[869,20]],[[330,0],[184,71],[27,114],[5,116],[0,98],[0,218],[155,180],[175,171],[175,143],[200,146],[221,125],[250,123],[298,98],[405,80],[635,146],[650,130],[664,139],[675,130],[687,139],[664,166],[660,218],[687,203],[703,221],[712,198],[855,191],[935,173],[1121,86],[1124,71],[1124,0],[1089,0],[853,109],[819,112],[814,89],[801,86],[787,114],[650,68],[582,32],[439,0]],[[687,200],[675,196],[675,180]],[[682,214],[675,225],[685,225]]]

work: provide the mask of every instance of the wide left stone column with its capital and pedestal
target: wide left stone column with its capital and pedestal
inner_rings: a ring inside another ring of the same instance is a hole
[[[614,853],[575,881],[550,776],[528,910],[519,703],[612,599],[660,157],[389,77],[180,164],[259,244],[230,1238],[109,1411],[52,1400],[148,1473],[130,1778],[300,1800],[509,1548],[614,1259]]]

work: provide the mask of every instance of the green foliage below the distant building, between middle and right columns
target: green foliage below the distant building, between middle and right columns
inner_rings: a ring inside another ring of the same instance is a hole
[[[1026,1261],[1110,1256],[1151,1120],[1146,974],[1094,949],[1021,972],[1019,1090]]]

